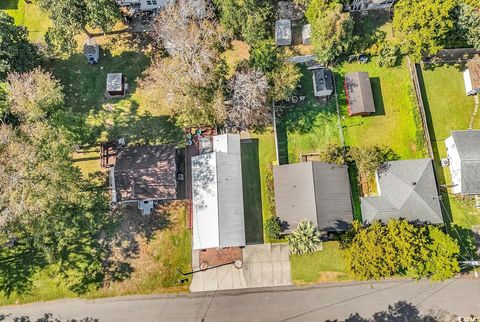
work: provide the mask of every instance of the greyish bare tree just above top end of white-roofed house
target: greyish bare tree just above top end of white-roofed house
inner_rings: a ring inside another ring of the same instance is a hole
[[[226,127],[233,131],[267,126],[272,121],[268,80],[254,69],[238,70],[229,83]]]

